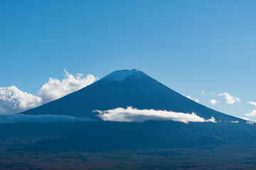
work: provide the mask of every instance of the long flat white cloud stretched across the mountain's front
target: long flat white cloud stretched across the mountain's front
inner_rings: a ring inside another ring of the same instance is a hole
[[[99,113],[99,117],[105,121],[117,122],[144,122],[146,120],[174,120],[182,123],[189,122],[212,122],[215,123],[215,118],[211,117],[208,120],[201,118],[195,113],[176,113],[172,111],[155,111],[139,110],[137,108],[115,108],[107,111],[95,111]]]

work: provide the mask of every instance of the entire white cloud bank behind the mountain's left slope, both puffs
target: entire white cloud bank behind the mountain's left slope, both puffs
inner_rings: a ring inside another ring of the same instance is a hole
[[[35,108],[43,103],[78,91],[96,80],[97,78],[92,74],[88,74],[86,77],[83,74],[73,76],[65,71],[63,80],[50,78],[38,91],[38,96],[23,92],[16,86],[0,87],[0,114],[18,113]]]

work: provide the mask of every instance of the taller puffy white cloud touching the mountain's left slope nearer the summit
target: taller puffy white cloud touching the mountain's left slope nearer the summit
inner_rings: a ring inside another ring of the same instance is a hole
[[[78,91],[97,80],[92,74],[88,74],[86,77],[83,77],[83,74],[73,76],[65,69],[64,71],[65,78],[63,80],[60,81],[59,79],[50,78],[48,83],[44,84],[38,91],[38,95],[42,98],[43,103],[56,100],[74,91]]]

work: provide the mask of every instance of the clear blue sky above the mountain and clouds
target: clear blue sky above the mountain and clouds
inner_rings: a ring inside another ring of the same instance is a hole
[[[49,77],[142,70],[210,108],[256,101],[256,1],[0,1],[0,87],[37,95]],[[208,94],[201,94],[206,91]],[[227,92],[240,102],[225,103]],[[210,104],[211,99],[219,103]],[[256,117],[249,117],[256,120]]]

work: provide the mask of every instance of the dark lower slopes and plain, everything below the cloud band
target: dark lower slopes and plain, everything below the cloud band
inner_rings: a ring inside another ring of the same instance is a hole
[[[254,125],[207,125],[0,125],[0,169],[256,169]]]

